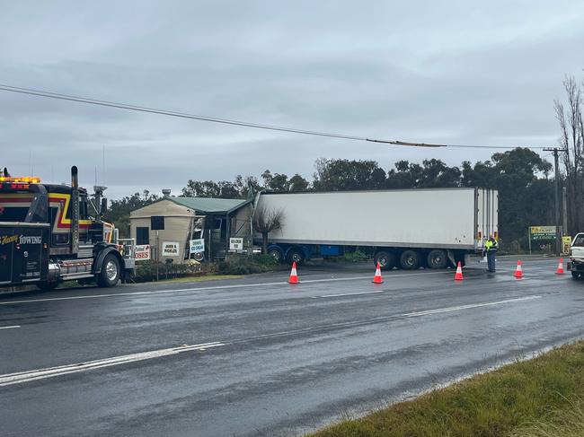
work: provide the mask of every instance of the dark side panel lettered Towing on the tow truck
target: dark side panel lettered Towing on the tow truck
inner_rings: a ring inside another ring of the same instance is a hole
[[[0,285],[47,278],[49,225],[0,223]]]

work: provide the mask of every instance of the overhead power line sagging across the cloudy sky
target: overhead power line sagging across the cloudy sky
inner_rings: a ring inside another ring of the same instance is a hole
[[[75,101],[77,103],[85,103],[90,105],[97,105],[97,106],[104,106],[108,108],[116,108],[116,109],[128,109],[134,110],[138,112],[147,112],[151,114],[158,114],[164,115],[169,117],[178,117],[178,118],[190,118],[199,121],[207,121],[210,123],[220,123],[225,125],[232,125],[232,126],[241,126],[241,127],[253,127],[256,129],[265,129],[265,130],[273,130],[279,132],[289,132],[292,134],[300,134],[300,135],[314,135],[314,136],[326,136],[331,138],[339,138],[339,139],[346,139],[352,141],[366,141],[369,143],[379,143],[379,144],[391,144],[391,145],[401,145],[407,147],[464,147],[464,148],[473,148],[473,149],[514,149],[517,146],[500,146],[500,145],[476,145],[476,144],[432,144],[432,143],[414,143],[408,141],[400,141],[400,140],[383,140],[383,139],[376,139],[376,138],[367,138],[366,136],[358,136],[358,135],[344,135],[338,133],[331,133],[331,132],[320,132],[314,130],[306,130],[306,129],[298,129],[295,127],[281,127],[281,126],[273,126],[273,125],[264,125],[261,123],[252,123],[247,121],[241,120],[233,120],[228,118],[216,118],[216,117],[208,117],[202,116],[197,114],[190,114],[187,112],[180,112],[175,110],[169,109],[155,109],[146,106],[140,105],[133,105],[128,103],[120,103],[116,101],[102,101],[97,99],[92,99],[88,97],[81,97],[75,96],[71,94],[61,94],[58,92],[46,92],[40,90],[33,90],[31,88],[22,88],[18,86],[11,86],[0,84],[0,91],[4,92],[17,92],[20,94],[27,94],[36,97],[44,97],[49,99],[56,99],[60,101]],[[543,149],[544,147],[527,147],[530,149]]]

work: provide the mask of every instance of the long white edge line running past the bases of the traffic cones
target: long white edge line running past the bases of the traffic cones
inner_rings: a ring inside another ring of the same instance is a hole
[[[415,276],[415,275],[444,275],[450,274],[450,272],[427,272],[427,273],[411,273],[404,275],[387,275],[385,279],[389,278],[400,278],[405,276]],[[332,277],[324,279],[308,279],[300,281],[300,284],[317,284],[317,283],[328,283],[328,282],[340,282],[340,281],[356,281],[360,279],[372,279],[371,276],[351,276],[351,277]],[[277,283],[261,283],[261,284],[232,284],[232,285],[216,285],[209,287],[193,287],[193,288],[173,288],[169,290],[150,290],[146,292],[127,292],[127,293],[107,293],[107,294],[87,294],[83,296],[66,296],[66,297],[52,297],[47,299],[28,299],[23,301],[7,301],[0,302],[0,305],[13,305],[15,303],[34,303],[34,302],[53,302],[53,301],[75,301],[78,299],[97,299],[102,297],[118,297],[118,296],[139,296],[147,294],[164,294],[164,293],[182,293],[182,292],[204,292],[213,290],[229,290],[235,288],[250,288],[250,287],[266,287],[272,285],[289,285],[288,282],[277,282]],[[296,284],[295,284],[296,285]]]

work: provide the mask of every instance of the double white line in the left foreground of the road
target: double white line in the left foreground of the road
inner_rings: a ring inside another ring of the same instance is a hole
[[[224,343],[212,342],[202,343],[200,345],[181,345],[178,347],[171,347],[168,349],[160,349],[156,351],[141,352],[138,354],[128,354],[105,358],[103,360],[94,360],[84,363],[68,364],[58,367],[49,367],[46,369],[37,369],[33,371],[19,371],[16,373],[7,373],[0,375],[0,387],[9,386],[13,384],[22,384],[31,380],[44,380],[56,376],[67,375],[70,373],[77,373],[79,371],[92,371],[94,369],[101,369],[102,367],[111,367],[119,364],[135,363],[137,361],[151,360],[161,356],[168,356],[173,354],[181,354],[181,352],[189,351],[205,351],[211,347],[219,347],[225,345]]]

